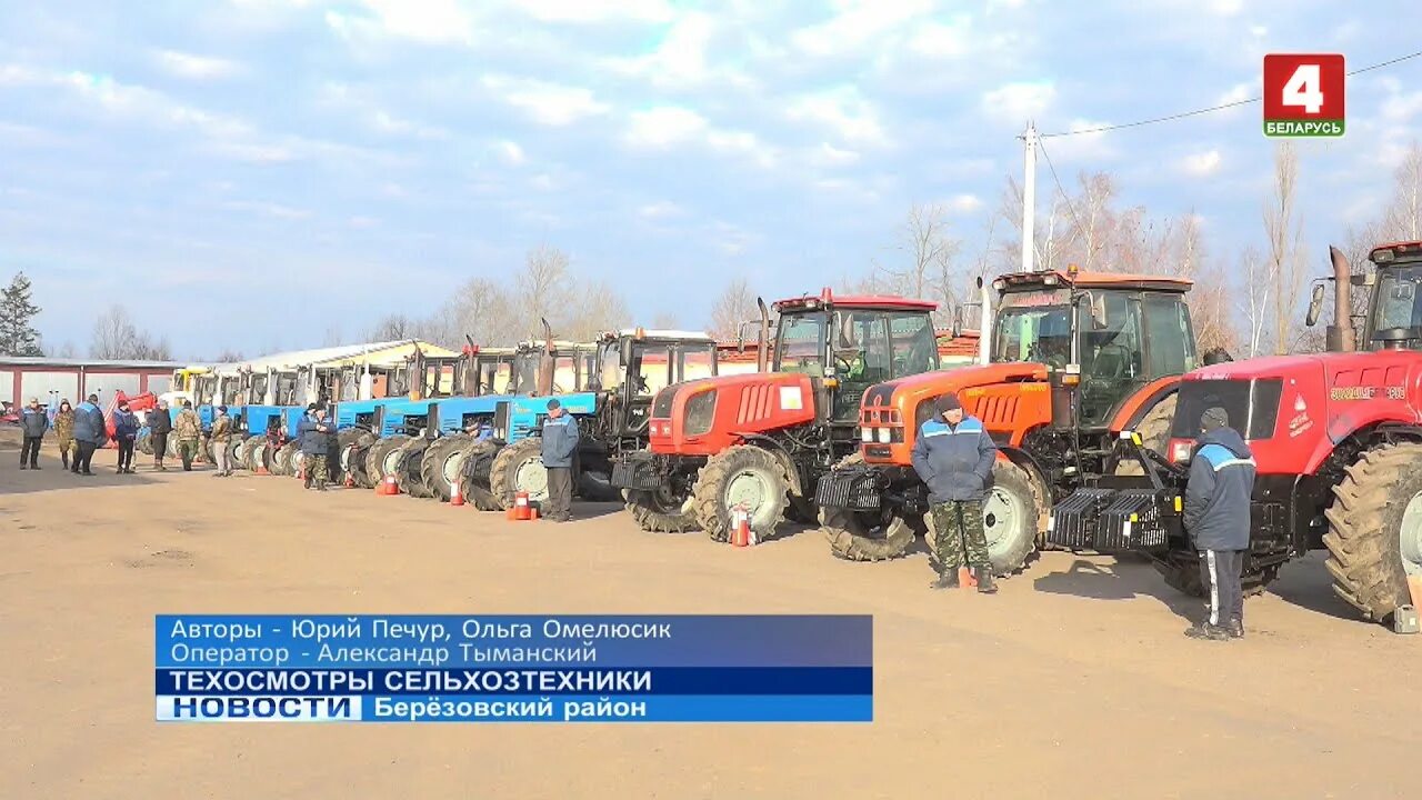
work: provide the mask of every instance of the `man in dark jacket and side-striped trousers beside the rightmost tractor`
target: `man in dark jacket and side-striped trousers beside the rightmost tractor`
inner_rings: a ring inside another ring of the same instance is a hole
[[[1200,552],[1200,577],[1209,591],[1210,615],[1190,626],[1193,639],[1244,636],[1244,592],[1240,572],[1249,551],[1254,456],[1230,427],[1224,409],[1200,416],[1199,448],[1185,488],[1185,530]]]

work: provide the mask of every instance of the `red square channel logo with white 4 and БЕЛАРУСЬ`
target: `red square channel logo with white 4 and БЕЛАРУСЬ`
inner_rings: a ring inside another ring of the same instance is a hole
[[[1347,73],[1338,54],[1264,57],[1264,135],[1341,137]]]

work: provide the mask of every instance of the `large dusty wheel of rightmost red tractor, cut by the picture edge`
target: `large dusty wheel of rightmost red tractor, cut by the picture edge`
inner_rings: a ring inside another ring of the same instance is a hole
[[[1409,577],[1422,577],[1422,444],[1368,450],[1334,487],[1324,512],[1334,592],[1362,616],[1384,622],[1411,604]]]

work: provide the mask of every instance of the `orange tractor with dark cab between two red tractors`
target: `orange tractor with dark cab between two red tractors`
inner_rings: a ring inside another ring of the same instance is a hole
[[[1085,475],[1139,473],[1115,456],[1122,430],[1165,446],[1180,374],[1199,366],[1176,278],[1027,272],[993,282],[984,307],[988,363],[869,387],[860,447],[819,481],[816,504],[833,554],[879,561],[930,530],[927,488],[910,454],[936,400],[954,393],[1000,448],[984,501],[997,575],[1044,544],[1052,504]]]

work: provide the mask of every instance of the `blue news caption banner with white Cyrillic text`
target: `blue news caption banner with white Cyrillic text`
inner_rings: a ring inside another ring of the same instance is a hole
[[[872,616],[158,615],[159,722],[872,722]]]

